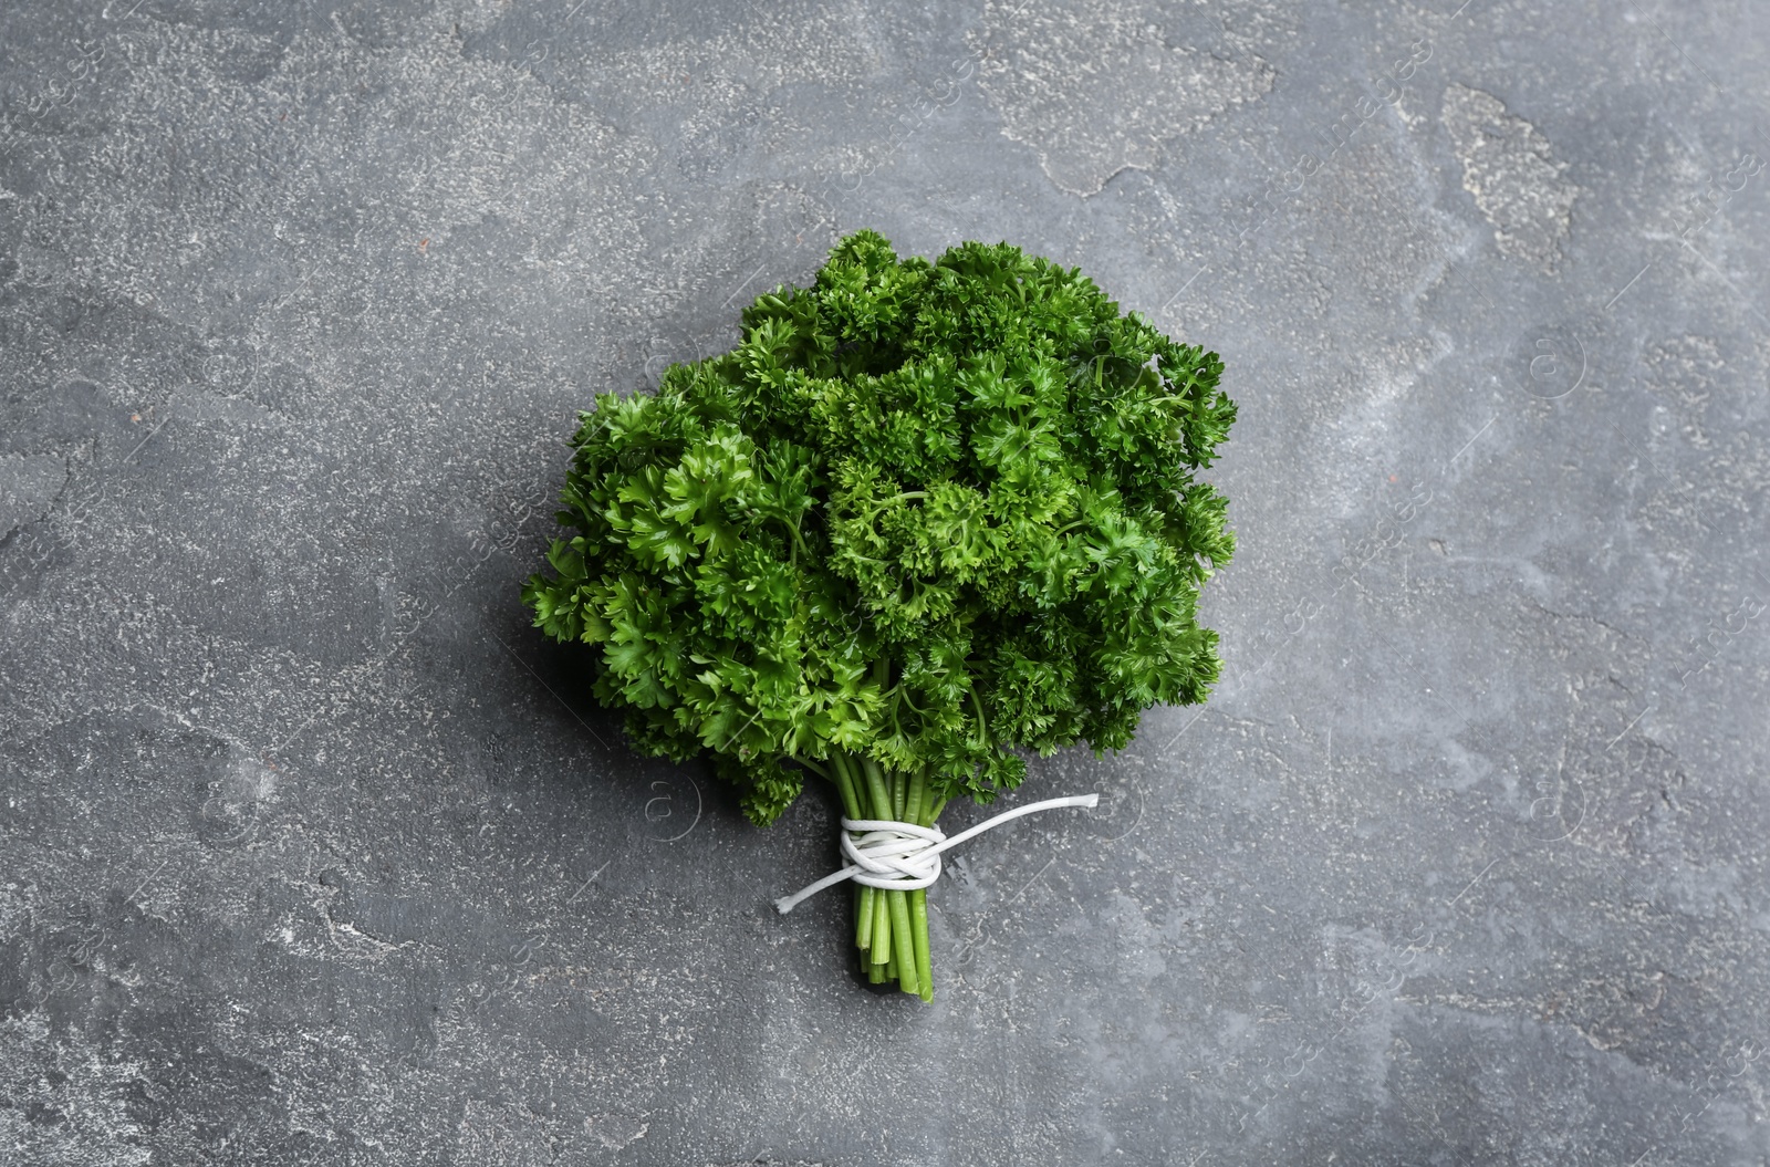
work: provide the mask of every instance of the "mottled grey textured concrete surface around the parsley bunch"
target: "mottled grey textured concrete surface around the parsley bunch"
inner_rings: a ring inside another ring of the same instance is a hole
[[[1770,1162],[1770,9],[1457,2],[0,7],[0,1160]],[[931,1008],[517,599],[862,225],[1241,402]]]

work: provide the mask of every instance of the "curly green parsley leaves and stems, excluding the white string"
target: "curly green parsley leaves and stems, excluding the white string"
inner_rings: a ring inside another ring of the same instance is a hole
[[[933,825],[1020,784],[1023,751],[1122,749],[1216,682],[1221,370],[1080,271],[862,230],[731,352],[579,414],[570,537],[522,597],[593,648],[634,746],[710,751],[758,825],[807,772],[850,818]],[[855,940],[933,997],[924,893],[857,887]]]

